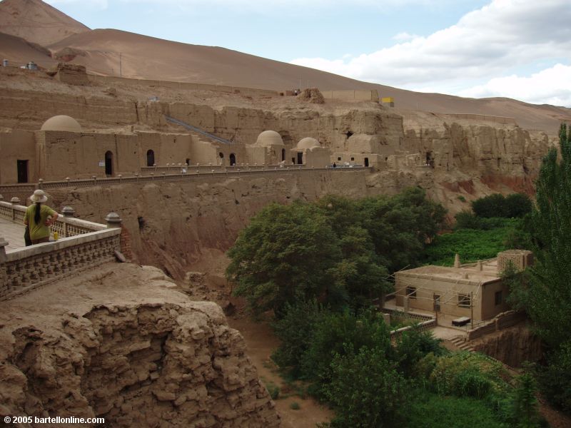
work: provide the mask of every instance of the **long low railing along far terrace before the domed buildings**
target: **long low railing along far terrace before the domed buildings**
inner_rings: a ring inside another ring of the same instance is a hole
[[[307,168],[306,165],[286,165],[281,167],[280,165],[234,165],[227,166],[224,169],[218,166],[200,166],[196,168],[195,166],[189,166],[186,168],[186,172],[182,171],[182,168],[169,166],[171,168],[168,170],[163,170],[161,173],[154,173],[153,168],[155,167],[144,167],[148,168],[148,175],[143,175],[140,173],[135,173],[132,176],[123,176],[122,174],[116,175],[116,177],[111,178],[97,178],[96,176],[92,178],[84,178],[81,180],[72,180],[71,178],[66,178],[60,181],[44,181],[41,178],[38,183],[24,183],[24,184],[2,184],[0,185],[0,193],[6,197],[17,196],[19,198],[26,198],[27,195],[34,193],[36,189],[56,189],[56,188],[78,188],[78,187],[90,187],[94,185],[119,185],[125,183],[150,183],[152,181],[186,181],[186,180],[201,180],[205,177],[217,177],[221,180],[226,179],[226,177],[233,175],[238,177],[239,175],[251,175],[251,174],[275,174],[275,173],[307,173],[310,171],[329,171],[330,173],[338,173],[339,171],[358,171],[358,170],[370,170],[372,167],[365,166],[355,166],[352,168],[330,168],[326,166],[324,168]],[[158,168],[158,167],[157,167]],[[166,167],[164,167],[166,168]],[[141,169],[142,170],[142,169]],[[153,172],[151,174],[151,172]]]

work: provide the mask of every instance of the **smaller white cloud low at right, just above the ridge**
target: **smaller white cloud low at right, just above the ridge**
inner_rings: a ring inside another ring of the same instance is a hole
[[[571,106],[571,66],[556,64],[529,77],[492,78],[483,85],[460,91],[460,95],[474,98],[507,96],[530,103]]]

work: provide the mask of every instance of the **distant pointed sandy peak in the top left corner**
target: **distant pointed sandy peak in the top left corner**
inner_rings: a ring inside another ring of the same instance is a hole
[[[0,32],[19,36],[42,46],[89,31],[41,0],[3,0],[0,3]]]

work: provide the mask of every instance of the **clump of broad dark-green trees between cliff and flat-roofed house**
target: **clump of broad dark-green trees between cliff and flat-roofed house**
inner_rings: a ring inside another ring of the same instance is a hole
[[[273,203],[228,250],[226,275],[255,315],[318,298],[331,307],[367,307],[390,291],[389,272],[417,265],[444,208],[410,188],[398,195],[318,203]]]

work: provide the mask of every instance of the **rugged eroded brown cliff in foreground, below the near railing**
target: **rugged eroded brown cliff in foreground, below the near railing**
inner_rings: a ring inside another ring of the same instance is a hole
[[[240,333],[174,287],[156,268],[110,264],[3,302],[0,414],[278,427]]]

